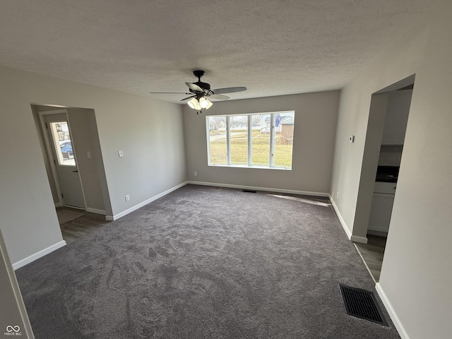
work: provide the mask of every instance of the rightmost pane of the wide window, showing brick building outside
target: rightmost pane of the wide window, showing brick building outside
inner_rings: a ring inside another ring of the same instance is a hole
[[[274,167],[292,168],[295,112],[275,114]]]

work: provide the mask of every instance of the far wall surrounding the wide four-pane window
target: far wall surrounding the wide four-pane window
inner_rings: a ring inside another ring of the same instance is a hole
[[[338,91],[215,102],[196,114],[184,106],[187,174],[189,180],[294,191],[328,193]],[[292,170],[212,167],[207,165],[206,115],[295,111]],[[194,177],[194,172],[198,176]]]

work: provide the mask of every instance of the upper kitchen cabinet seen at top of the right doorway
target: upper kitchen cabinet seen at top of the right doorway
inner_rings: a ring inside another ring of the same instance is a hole
[[[410,112],[412,90],[400,90],[388,97],[382,145],[403,145]]]

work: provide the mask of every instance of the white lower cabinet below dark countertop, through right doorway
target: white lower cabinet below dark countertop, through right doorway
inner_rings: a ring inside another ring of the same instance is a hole
[[[395,193],[396,184],[391,182],[375,183],[368,231],[388,233]]]

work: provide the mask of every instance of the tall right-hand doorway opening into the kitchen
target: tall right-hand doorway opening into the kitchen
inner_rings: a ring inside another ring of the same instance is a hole
[[[379,281],[408,124],[414,78],[372,95],[357,214],[367,243],[355,243],[375,282]]]

